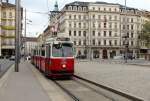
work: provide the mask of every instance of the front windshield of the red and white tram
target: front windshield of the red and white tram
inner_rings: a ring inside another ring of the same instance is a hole
[[[52,48],[53,57],[72,57],[73,48],[71,43],[54,44]]]

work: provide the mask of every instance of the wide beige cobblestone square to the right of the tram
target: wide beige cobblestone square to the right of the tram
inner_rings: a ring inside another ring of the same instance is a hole
[[[142,62],[141,64],[149,64]],[[150,68],[97,61],[75,63],[75,74],[150,101]]]

